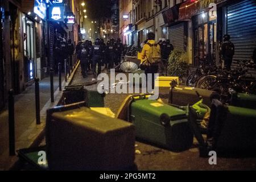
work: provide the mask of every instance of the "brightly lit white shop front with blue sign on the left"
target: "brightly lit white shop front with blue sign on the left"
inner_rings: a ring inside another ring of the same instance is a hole
[[[46,1],[22,1],[24,82],[47,76]]]

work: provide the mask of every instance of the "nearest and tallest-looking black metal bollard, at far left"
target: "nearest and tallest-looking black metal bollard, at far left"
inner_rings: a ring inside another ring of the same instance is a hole
[[[15,155],[14,90],[9,91],[9,155]]]

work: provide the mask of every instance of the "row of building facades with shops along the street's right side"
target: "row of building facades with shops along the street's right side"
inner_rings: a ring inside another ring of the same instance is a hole
[[[208,57],[216,64],[220,62],[225,34],[231,36],[235,45],[233,67],[238,60],[250,60],[256,47],[256,2],[253,0],[134,0],[132,7],[123,3],[121,8],[120,17],[127,10],[133,12],[131,23],[137,29],[130,36],[133,39],[130,42],[139,47],[147,33],[154,32],[156,40],[170,39],[175,49],[187,52],[188,63],[195,67]],[[121,37],[125,35],[125,21],[120,19]]]

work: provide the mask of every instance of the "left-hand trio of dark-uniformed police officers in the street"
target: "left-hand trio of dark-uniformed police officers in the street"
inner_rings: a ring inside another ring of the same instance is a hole
[[[97,38],[94,46],[89,40],[82,42],[76,50],[81,61],[82,76],[88,77],[88,71],[92,69],[93,77],[96,78],[101,73],[101,67],[112,69],[114,65],[119,65],[123,50],[120,39],[111,39],[105,44],[103,39]]]

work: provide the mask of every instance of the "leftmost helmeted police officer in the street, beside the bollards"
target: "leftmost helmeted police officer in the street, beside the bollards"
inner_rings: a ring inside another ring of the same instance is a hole
[[[89,48],[86,43],[81,44],[81,49],[79,50],[79,59],[81,60],[82,77],[86,78],[88,76],[88,63],[89,63]]]

